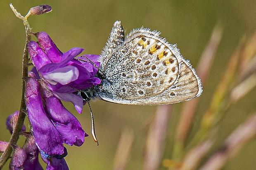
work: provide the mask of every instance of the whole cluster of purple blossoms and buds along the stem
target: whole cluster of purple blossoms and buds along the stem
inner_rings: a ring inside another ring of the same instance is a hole
[[[12,145],[14,153],[10,169],[43,169],[38,155],[47,170],[66,170],[67,155],[63,144],[81,146],[88,135],[61,100],[72,102],[78,113],[86,101],[78,91],[85,90],[101,80],[95,77],[100,62],[97,55],[78,56],[83,49],[72,48],[62,53],[45,32],[33,33],[38,42],[28,42],[27,49],[34,65],[28,77],[24,77],[25,100],[31,133],[22,134],[26,142],[21,148]],[[7,118],[7,128],[12,133],[18,112]],[[25,127],[22,130],[26,130]],[[6,143],[0,142],[4,150]]]

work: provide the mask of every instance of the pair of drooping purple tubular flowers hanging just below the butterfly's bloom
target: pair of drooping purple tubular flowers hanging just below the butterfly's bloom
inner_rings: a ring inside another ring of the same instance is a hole
[[[63,143],[81,146],[88,136],[81,124],[42,80],[38,80],[39,85],[35,75],[32,72],[29,75],[26,78],[28,119],[41,155],[47,158],[64,154]]]

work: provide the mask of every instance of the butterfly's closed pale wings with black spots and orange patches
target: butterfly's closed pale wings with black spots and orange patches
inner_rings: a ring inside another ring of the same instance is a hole
[[[200,79],[175,45],[147,28],[133,30],[123,39],[121,22],[116,22],[101,55],[104,79],[98,95],[102,100],[163,105],[201,94]]]

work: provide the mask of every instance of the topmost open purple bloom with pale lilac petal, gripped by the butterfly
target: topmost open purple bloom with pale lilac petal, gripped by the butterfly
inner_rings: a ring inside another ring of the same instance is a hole
[[[100,84],[100,79],[95,77],[97,67],[100,66],[99,56],[88,54],[76,57],[83,51],[81,48],[62,53],[47,33],[38,32],[34,35],[40,46],[34,41],[28,43],[28,53],[36,68],[31,71],[37,79],[43,77],[47,81],[47,86],[57,98],[72,102],[78,113],[81,113],[85,103],[81,96],[73,93]]]

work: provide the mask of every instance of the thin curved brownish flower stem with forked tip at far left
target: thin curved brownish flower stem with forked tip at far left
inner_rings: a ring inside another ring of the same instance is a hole
[[[17,10],[13,7],[12,4],[10,4],[10,7],[14,12],[14,14],[23,21],[23,24],[26,30],[26,43],[25,43],[23,56],[22,56],[22,77],[27,77],[28,76],[28,51],[26,49],[26,46],[28,42],[31,40],[31,35],[30,35],[31,28],[28,24],[27,18],[30,15],[30,12],[28,12],[28,14],[24,17],[19,12],[17,12]],[[26,103],[25,103],[25,83],[26,82],[24,81],[24,79],[22,79],[21,81],[22,81],[22,85],[21,85],[22,96],[21,96],[21,106],[19,110],[19,117],[18,117],[17,123],[14,126],[12,136],[9,140],[9,145],[7,146],[7,148],[5,149],[5,152],[0,157],[0,169],[2,169],[2,167],[5,165],[6,161],[8,160],[8,158],[12,153],[11,145],[16,144],[18,141],[19,132],[21,131],[22,125],[24,123],[24,119],[26,117]]]

